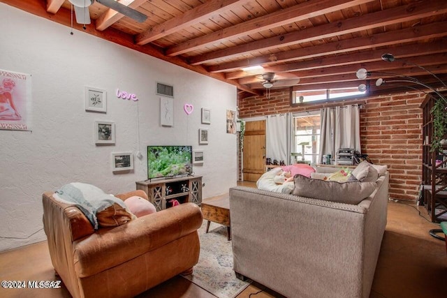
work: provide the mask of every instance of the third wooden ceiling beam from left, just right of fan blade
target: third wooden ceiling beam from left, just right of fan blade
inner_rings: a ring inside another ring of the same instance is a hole
[[[249,1],[250,0],[207,1],[200,6],[196,6],[196,8],[186,11],[182,15],[173,17],[162,24],[138,34],[138,36],[135,37],[135,43],[137,45],[145,45],[171,33],[190,27],[193,24],[208,20],[212,15],[218,15],[220,11],[231,10],[237,6],[244,5]]]

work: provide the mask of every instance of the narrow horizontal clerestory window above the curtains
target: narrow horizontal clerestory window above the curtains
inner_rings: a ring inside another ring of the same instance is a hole
[[[358,87],[292,91],[292,103],[309,103],[318,100],[336,100],[365,95],[366,91],[358,91]]]

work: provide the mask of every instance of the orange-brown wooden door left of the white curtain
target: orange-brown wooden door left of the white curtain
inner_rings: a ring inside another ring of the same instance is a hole
[[[245,124],[243,160],[244,181],[258,181],[265,172],[265,120]]]

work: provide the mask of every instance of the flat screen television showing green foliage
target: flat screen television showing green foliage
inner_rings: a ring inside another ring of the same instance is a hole
[[[147,146],[147,179],[190,175],[192,146]]]

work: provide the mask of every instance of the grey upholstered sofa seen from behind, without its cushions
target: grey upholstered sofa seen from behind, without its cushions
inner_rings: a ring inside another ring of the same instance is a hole
[[[369,297],[389,173],[358,204],[230,188],[234,270],[286,297]]]

